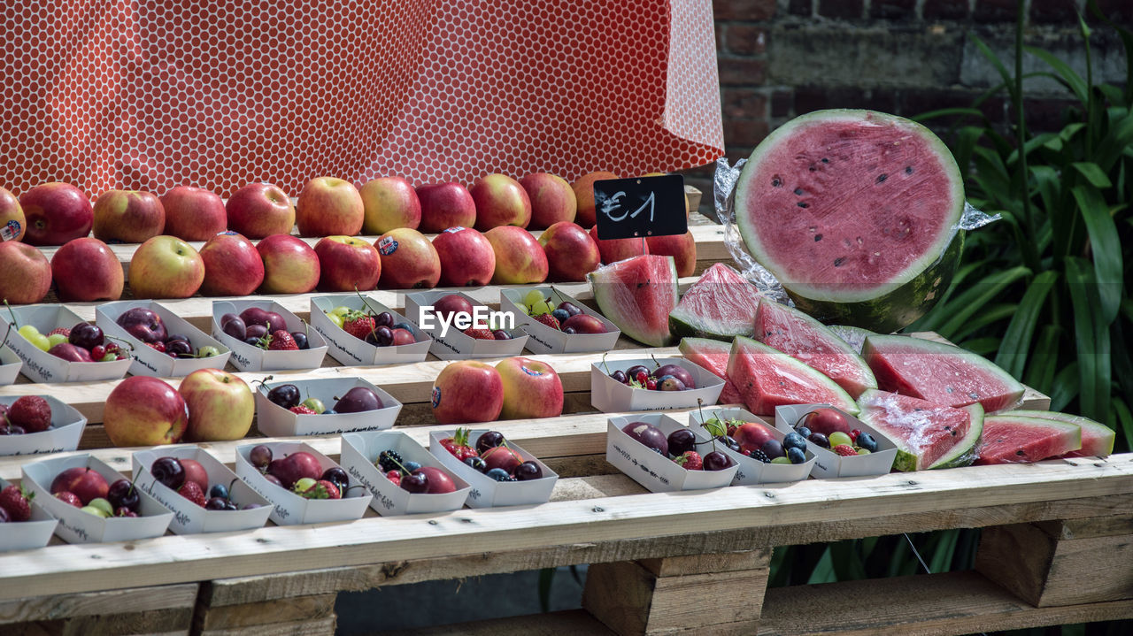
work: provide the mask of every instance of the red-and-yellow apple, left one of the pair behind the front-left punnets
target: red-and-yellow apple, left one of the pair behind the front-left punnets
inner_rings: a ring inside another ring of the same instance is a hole
[[[189,423],[177,389],[150,376],[130,376],[107,396],[102,427],[114,446],[177,444]]]

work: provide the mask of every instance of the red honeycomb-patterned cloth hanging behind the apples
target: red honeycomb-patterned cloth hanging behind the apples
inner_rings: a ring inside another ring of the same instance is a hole
[[[7,0],[0,186],[292,196],[722,154],[709,0]]]

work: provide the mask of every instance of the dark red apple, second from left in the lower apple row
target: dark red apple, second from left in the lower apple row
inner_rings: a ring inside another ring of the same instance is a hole
[[[51,257],[51,274],[59,300],[93,301],[122,298],[126,274],[118,256],[99,239],[68,241]],[[135,290],[135,295],[137,291]]]

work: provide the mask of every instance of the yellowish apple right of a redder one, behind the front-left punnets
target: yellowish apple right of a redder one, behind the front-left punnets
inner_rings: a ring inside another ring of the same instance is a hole
[[[185,376],[177,390],[189,409],[187,441],[241,439],[252,429],[256,398],[247,383],[232,373],[197,369]]]

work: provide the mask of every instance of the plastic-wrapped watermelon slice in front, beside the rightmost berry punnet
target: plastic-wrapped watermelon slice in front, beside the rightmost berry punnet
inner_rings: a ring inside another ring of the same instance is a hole
[[[972,450],[980,438],[973,424],[982,428],[983,410],[979,404],[953,409],[917,397],[867,390],[858,398],[858,418],[893,440],[898,471],[922,471],[971,464]]]

